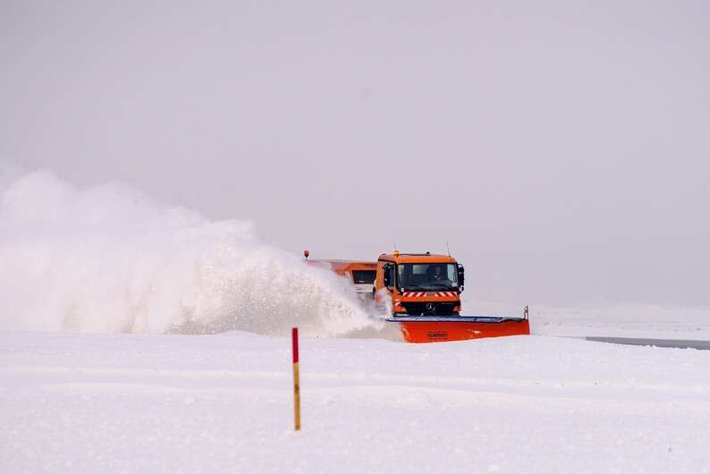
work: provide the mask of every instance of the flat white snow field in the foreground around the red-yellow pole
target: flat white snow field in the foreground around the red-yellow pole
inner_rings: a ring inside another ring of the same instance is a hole
[[[710,351],[0,333],[0,472],[710,472]]]

